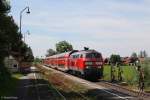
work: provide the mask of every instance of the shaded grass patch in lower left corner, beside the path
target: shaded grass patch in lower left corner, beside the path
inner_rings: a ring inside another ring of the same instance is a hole
[[[13,92],[15,91],[18,82],[19,82],[19,78],[23,76],[20,73],[13,73],[11,75],[11,78],[8,79],[6,82],[4,82],[1,86],[0,86],[0,96],[11,96],[13,95]]]

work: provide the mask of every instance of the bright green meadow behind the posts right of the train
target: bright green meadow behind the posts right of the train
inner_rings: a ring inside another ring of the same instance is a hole
[[[150,91],[150,64],[142,64],[142,67],[144,68],[145,72],[145,91]],[[126,83],[128,87],[133,87],[134,89],[137,89],[138,87],[138,80],[139,80],[139,74],[137,71],[136,66],[121,66],[121,69],[123,71],[122,78],[123,80],[121,82],[118,81],[118,67],[115,67],[115,81],[119,84]],[[104,65],[104,80],[111,81],[111,66],[110,65]]]

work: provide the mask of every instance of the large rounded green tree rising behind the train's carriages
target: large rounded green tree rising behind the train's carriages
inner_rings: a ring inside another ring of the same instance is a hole
[[[56,51],[58,53],[63,53],[71,50],[73,50],[73,47],[67,41],[60,41],[56,44]]]

